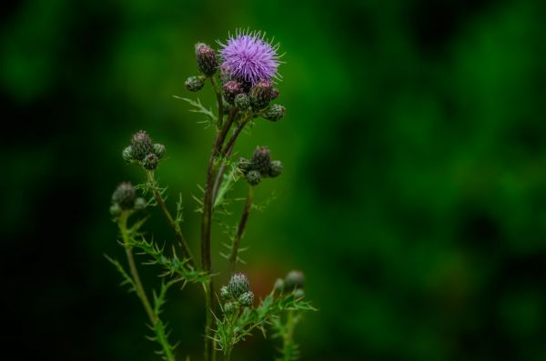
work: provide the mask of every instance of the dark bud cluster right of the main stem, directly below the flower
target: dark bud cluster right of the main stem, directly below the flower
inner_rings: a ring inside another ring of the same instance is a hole
[[[274,178],[282,173],[282,163],[271,160],[271,154],[266,146],[258,146],[251,160],[240,158],[238,168],[247,177],[251,186],[257,186],[264,177]]]

